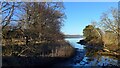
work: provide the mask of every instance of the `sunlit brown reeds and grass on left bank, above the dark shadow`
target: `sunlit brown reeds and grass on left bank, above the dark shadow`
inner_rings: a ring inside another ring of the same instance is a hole
[[[48,56],[69,57],[74,48],[67,42],[52,42],[29,45],[6,45],[2,46],[3,56]]]

